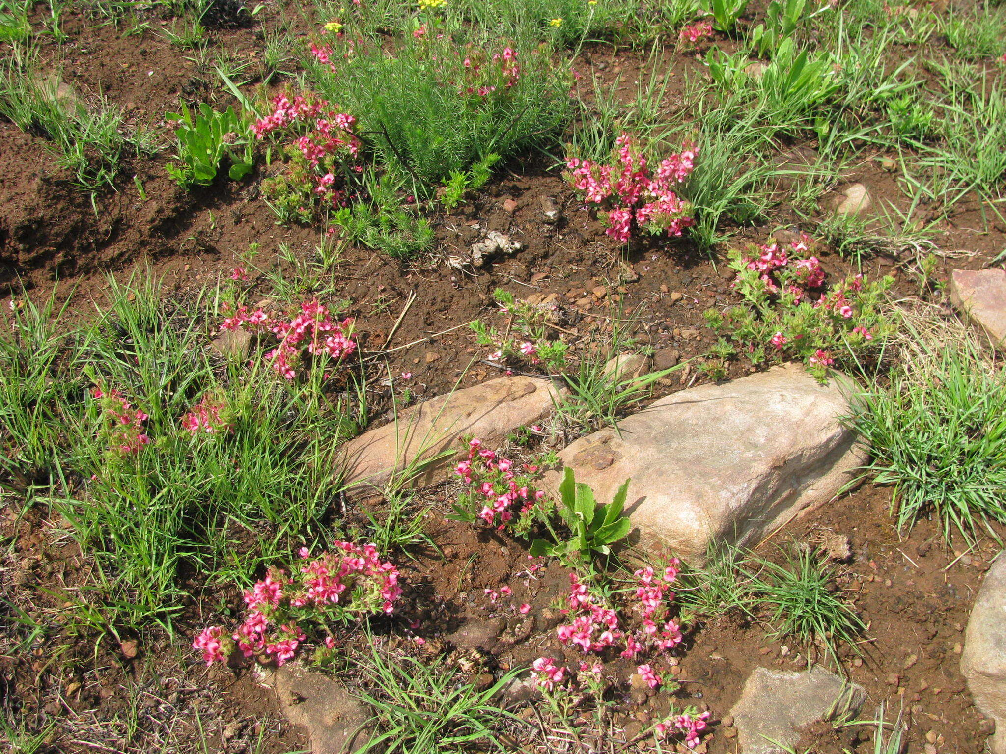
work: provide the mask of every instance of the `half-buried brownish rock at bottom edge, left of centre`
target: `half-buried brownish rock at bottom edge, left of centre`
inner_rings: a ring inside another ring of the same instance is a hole
[[[313,754],[351,754],[369,741],[369,711],[335,679],[290,663],[266,683],[287,720],[308,729]]]

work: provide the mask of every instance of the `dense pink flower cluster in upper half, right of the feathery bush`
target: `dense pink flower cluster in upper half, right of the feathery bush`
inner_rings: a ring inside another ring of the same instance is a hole
[[[688,202],[674,193],[694,168],[698,150],[685,145],[680,154],[661,161],[655,173],[646,158],[622,134],[616,142],[612,164],[601,165],[576,158],[566,162],[566,179],[583,192],[588,205],[608,209],[607,233],[625,243],[634,230],[681,235],[694,224]]]

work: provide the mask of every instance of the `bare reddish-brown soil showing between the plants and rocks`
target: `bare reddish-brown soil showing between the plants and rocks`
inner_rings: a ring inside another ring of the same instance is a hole
[[[263,48],[261,28],[280,20],[270,15],[274,12],[265,10],[254,27],[215,32],[212,49],[225,48],[257,60]],[[154,31],[163,25],[157,17],[150,20]],[[293,22],[296,27],[298,19]],[[78,96],[101,92],[127,113],[131,125],[163,128],[164,113],[175,110],[180,97],[224,100],[214,88],[211,69],[186,60],[156,33],[124,37],[114,25],[99,26],[72,13],[64,26],[71,42],[62,47],[43,43],[52,68],[61,57],[66,63],[63,79]],[[685,70],[694,74],[700,68],[693,56],[676,57],[673,65],[675,81]],[[645,55],[631,50],[612,54],[606,47],[585,52],[577,69],[586,80],[594,73],[617,85],[626,98],[632,96],[635,81],[649,72]],[[680,93],[673,85],[669,88],[669,113],[680,105]],[[805,146],[789,145],[787,150]],[[878,206],[890,202],[904,208],[896,181],[880,167],[881,157],[864,157],[845,181],[866,184]],[[54,292],[62,300],[72,294],[71,315],[86,317],[93,302],[102,303],[107,274],[124,278],[138,265],[146,265],[163,278],[165,295],[170,296],[226,276],[237,254],[253,242],[262,244],[257,264],[269,268],[278,243],[306,257],[319,241],[317,228],[275,224],[271,210],[259,198],[265,176],[186,192],[167,178],[167,159],[162,153],[130,166],[119,190],[97,196],[93,207],[88,195],[66,183],[41,139],[0,123],[4,296],[20,297],[22,285],[32,297]],[[129,179],[134,173],[146,198]],[[557,222],[544,216],[543,198],[560,208]],[[516,207],[507,211],[511,199]],[[480,354],[466,329],[452,329],[478,317],[494,317],[491,294],[497,287],[518,296],[558,295],[566,316],[563,327],[584,338],[610,330],[614,318],[635,318],[644,340],[655,348],[678,350],[682,359],[700,356],[715,340],[705,327],[703,311],[735,301],[728,278],[721,273],[722,259],[699,253],[686,240],[637,245],[620,257],[619,248],[582,211],[561,179],[534,160],[508,165],[463,210],[435,218],[440,255],[434,261],[408,268],[375,251],[346,247],[334,274],[338,298],[351,302],[351,313],[357,316],[365,351],[400,348],[386,355],[388,368],[392,374],[412,372],[420,397],[451,389],[459,377],[462,384],[472,384],[494,376],[488,365],[469,368],[469,361]],[[780,225],[799,224],[782,205],[774,220],[742,230],[738,240],[763,241]],[[509,234],[523,249],[481,269],[459,270],[444,263],[444,257],[475,240],[476,223]],[[954,266],[980,267],[1006,247],[1006,227],[983,224],[980,208],[972,202],[962,205],[934,241],[941,249],[973,252],[955,258]],[[898,293],[914,294],[918,288],[909,273],[913,262],[910,255],[892,252],[863,263],[872,273],[894,274]],[[824,263],[829,274],[844,274],[851,268],[837,254],[826,256]],[[265,275],[249,272],[253,295],[268,296],[271,289]],[[942,273],[946,272],[944,266]],[[599,287],[605,289],[604,296],[593,293]],[[418,294],[417,301],[388,340],[411,293]],[[441,335],[445,331],[450,332]],[[730,377],[747,369],[734,363]],[[681,389],[704,379],[696,372],[675,376],[661,390]],[[442,493],[441,502],[448,494]],[[958,558],[944,548],[936,524],[928,521],[899,535],[892,528],[888,503],[887,491],[866,486],[791,525],[764,549],[770,552],[788,537],[806,540],[815,531],[847,535],[852,555],[840,564],[839,581],[868,622],[869,640],[860,645],[861,655],[843,653],[842,669],[869,694],[864,716],[884,702],[889,711],[902,710],[908,721],[910,751],[920,751],[932,730],[939,750],[977,754],[990,729],[965,690],[958,658],[973,596],[995,550],[990,544]],[[281,721],[275,701],[247,672],[206,670],[188,649],[184,632],[172,640],[157,632],[117,637],[60,627],[65,605],[62,597],[53,595],[81,587],[90,566],[57,536],[57,525],[43,509],[22,514],[12,500],[0,522],[0,536],[8,543],[0,564],[5,601],[44,616],[47,624],[45,632],[35,634],[18,622],[16,609],[4,610],[0,697],[3,704],[22,711],[31,729],[60,721],[49,736],[53,750],[184,750],[199,725],[221,751],[269,754],[304,748],[305,740]],[[435,525],[431,536],[444,558],[431,556],[405,567],[409,607],[396,623],[405,635],[405,625],[415,618],[421,624],[414,633],[429,641],[500,616],[512,631],[517,624],[513,605],[529,602],[532,613],[540,616],[567,583],[557,566],[535,574],[535,579],[521,578],[526,554],[514,542],[480,537],[457,524]],[[512,587],[512,597],[492,604],[485,590],[503,585]],[[213,612],[228,596],[234,606],[236,594],[211,594],[200,609]],[[200,618],[193,607],[181,623],[194,628],[203,622]],[[547,622],[539,618],[529,638],[494,643],[498,666],[525,664],[546,652],[556,657],[567,653],[551,626],[543,624]],[[136,640],[134,652],[129,642]],[[722,718],[754,667],[806,667],[807,656],[800,647],[790,645],[784,655],[785,643],[770,637],[758,621],[738,615],[693,629],[678,652],[681,659],[675,672],[682,685],[678,695],[707,706],[720,721],[709,739],[710,752],[735,749],[728,721]],[[569,653],[567,659],[576,657]],[[628,661],[615,661],[609,672],[627,680],[632,669]],[[619,720],[629,730],[633,721],[640,726],[666,709],[666,699],[659,695],[639,704],[629,697],[618,701]],[[135,733],[130,732],[131,721],[136,723]],[[872,745],[870,731],[863,727],[825,727],[808,734],[805,743],[825,752],[843,748],[866,752]]]

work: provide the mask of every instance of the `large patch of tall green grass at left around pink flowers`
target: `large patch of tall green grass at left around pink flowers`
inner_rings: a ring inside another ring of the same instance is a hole
[[[0,336],[4,485],[51,484],[36,497],[95,559],[117,625],[169,627],[193,588],[243,582],[334,534],[322,517],[338,492],[335,446],[360,419],[351,375],[339,396],[323,387],[321,361],[292,383],[261,360],[219,364],[205,335],[215,295],[165,302],[156,280],[113,281],[87,327],[26,304],[19,329]],[[149,415],[149,444],[115,449],[94,386]],[[231,431],[181,428],[204,395],[226,396]]]

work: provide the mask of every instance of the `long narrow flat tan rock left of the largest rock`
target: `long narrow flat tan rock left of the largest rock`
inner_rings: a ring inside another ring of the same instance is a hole
[[[365,493],[383,490],[406,470],[412,484],[432,485],[450,476],[454,456],[465,451],[464,436],[497,446],[518,427],[545,419],[558,395],[549,380],[515,376],[431,398],[346,442],[339,468],[347,486]]]

